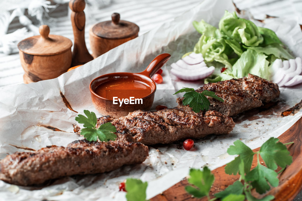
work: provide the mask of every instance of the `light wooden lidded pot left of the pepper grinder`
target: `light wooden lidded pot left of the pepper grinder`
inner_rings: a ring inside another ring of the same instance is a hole
[[[39,31],[40,36],[29,37],[18,44],[25,84],[56,78],[71,65],[71,40],[49,35],[47,25],[41,25]]]

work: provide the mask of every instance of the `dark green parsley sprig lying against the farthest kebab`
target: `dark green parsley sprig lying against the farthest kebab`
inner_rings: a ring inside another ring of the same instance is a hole
[[[217,99],[218,101],[224,102],[222,98],[215,95],[213,91],[204,90],[201,93],[196,92],[193,88],[185,88],[177,91],[175,94],[186,92],[184,94],[184,99],[182,100],[183,105],[189,105],[192,110],[196,113],[210,109],[210,101],[206,96],[210,96],[212,98]],[[173,94],[173,95],[175,95]]]

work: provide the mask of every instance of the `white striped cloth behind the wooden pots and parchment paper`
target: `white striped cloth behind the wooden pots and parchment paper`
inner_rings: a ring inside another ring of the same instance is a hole
[[[3,9],[5,6],[10,9],[24,7],[27,2],[29,0],[0,0],[0,8]],[[120,13],[122,20],[136,23],[140,27],[139,35],[142,35],[163,22],[173,20],[175,16],[181,15],[182,12],[193,8],[200,2],[201,0],[114,0],[111,4],[99,9],[87,6],[85,8],[87,48],[91,52],[88,40],[88,31],[91,25],[96,22],[111,20],[111,14],[114,12]],[[264,19],[266,14],[276,17],[297,17],[299,23],[302,24],[302,0],[234,0],[233,2],[239,9],[248,9],[255,19]],[[68,4],[50,9],[49,16],[50,19],[45,19],[44,24],[50,26],[50,33],[62,35],[73,41]],[[30,19],[37,23],[34,18]],[[19,28],[22,26],[18,18],[15,18],[10,24],[8,32],[13,32]],[[3,27],[0,27],[1,29]],[[23,69],[18,53],[12,55],[0,53],[0,88],[20,83],[23,83]],[[295,199],[295,201],[298,200],[302,200],[301,192]]]

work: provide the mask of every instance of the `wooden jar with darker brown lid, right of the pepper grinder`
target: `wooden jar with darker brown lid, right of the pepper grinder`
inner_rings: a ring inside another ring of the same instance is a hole
[[[111,18],[112,21],[100,22],[89,30],[93,58],[138,36],[140,28],[136,24],[120,20],[118,13],[112,14]]]

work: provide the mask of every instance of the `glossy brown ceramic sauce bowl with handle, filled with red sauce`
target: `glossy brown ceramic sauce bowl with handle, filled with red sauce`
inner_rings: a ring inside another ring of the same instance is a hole
[[[160,54],[140,73],[117,72],[95,78],[90,83],[93,105],[102,115],[115,118],[135,110],[150,110],[156,91],[151,78],[170,57]]]

